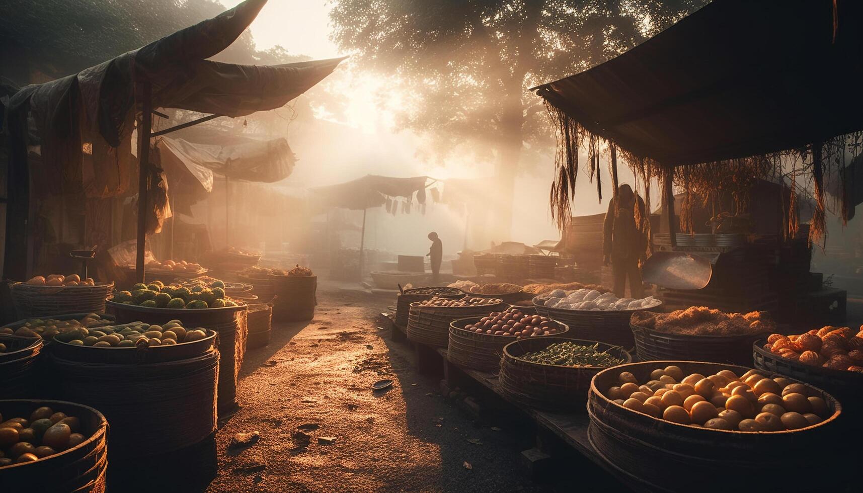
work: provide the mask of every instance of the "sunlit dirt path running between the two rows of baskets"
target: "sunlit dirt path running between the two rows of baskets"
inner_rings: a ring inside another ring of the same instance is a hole
[[[247,353],[243,408],[217,433],[207,491],[543,490],[506,430],[475,424],[415,372],[413,351],[382,328],[394,302],[319,287],[312,322],[274,326],[270,344]],[[373,391],[383,378],[392,388]],[[254,431],[254,445],[229,447]]]

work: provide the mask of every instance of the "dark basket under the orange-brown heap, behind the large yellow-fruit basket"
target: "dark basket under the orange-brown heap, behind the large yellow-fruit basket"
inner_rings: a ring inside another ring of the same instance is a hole
[[[752,360],[753,342],[765,333],[728,336],[688,335],[659,332],[640,325],[650,312],[633,313],[630,328],[635,338],[635,353],[639,361],[679,359],[684,361],[712,361],[745,366]]]

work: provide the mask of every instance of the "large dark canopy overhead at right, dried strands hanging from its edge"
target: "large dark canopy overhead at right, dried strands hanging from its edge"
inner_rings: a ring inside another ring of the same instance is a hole
[[[536,89],[583,129],[666,166],[796,149],[863,130],[860,19],[860,0],[715,0]]]

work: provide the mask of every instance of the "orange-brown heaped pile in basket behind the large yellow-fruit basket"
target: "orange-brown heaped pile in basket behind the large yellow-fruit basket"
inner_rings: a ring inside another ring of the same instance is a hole
[[[725,313],[708,307],[689,307],[671,313],[634,313],[633,324],[690,336],[731,336],[776,330],[767,312]]]

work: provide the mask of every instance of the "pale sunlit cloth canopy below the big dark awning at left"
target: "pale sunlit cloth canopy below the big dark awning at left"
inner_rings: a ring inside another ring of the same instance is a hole
[[[173,154],[207,192],[212,192],[214,173],[232,180],[272,183],[290,176],[296,161],[284,138],[220,146],[164,137],[159,147],[162,160],[165,152]]]

